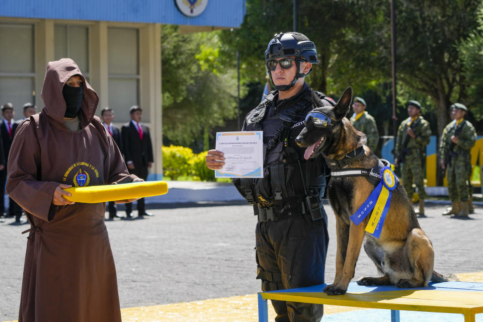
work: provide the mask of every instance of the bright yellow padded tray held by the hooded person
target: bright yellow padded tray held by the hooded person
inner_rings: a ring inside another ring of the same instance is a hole
[[[63,190],[72,195],[70,197],[64,195],[64,198],[69,201],[98,203],[164,195],[168,192],[168,183],[144,181],[119,185],[72,187]]]

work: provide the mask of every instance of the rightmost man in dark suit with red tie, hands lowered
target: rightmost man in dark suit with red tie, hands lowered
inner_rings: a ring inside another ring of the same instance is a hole
[[[147,126],[141,124],[142,110],[134,105],[129,109],[131,121],[122,126],[124,161],[130,174],[147,179],[147,170],[153,163],[151,136]],[[132,218],[132,203],[126,203],[126,217]],[[145,211],[144,198],[137,201],[138,218],[152,216]]]

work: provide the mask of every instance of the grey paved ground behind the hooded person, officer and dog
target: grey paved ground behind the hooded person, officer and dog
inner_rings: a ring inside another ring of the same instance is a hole
[[[201,307],[207,311],[213,309],[211,305],[215,302],[256,309],[252,307],[253,302],[245,300],[247,294],[250,298],[260,289],[260,281],[255,280],[256,218],[252,207],[240,199],[230,184],[169,182],[169,187],[167,195],[147,198],[147,207],[154,217],[106,222],[124,308],[123,320],[206,320],[201,315],[176,319],[177,315],[170,313],[167,306],[153,313],[157,319],[143,317],[148,308],[133,309],[168,304],[184,307],[181,303],[186,302],[191,303],[190,308]],[[428,203],[428,217],[420,219],[422,228],[433,241],[435,270],[440,273],[483,271],[480,237],[483,206],[478,206],[469,220],[441,216],[445,207],[445,204]],[[334,214],[330,206],[326,205],[326,209],[331,237],[326,281],[330,282],[335,275],[336,237]],[[0,223],[0,321],[16,319],[20,301],[26,246],[26,236],[21,231],[28,225],[16,226],[12,222],[8,218]],[[374,264],[362,252],[355,278],[376,274]],[[238,320],[253,319],[247,316]]]

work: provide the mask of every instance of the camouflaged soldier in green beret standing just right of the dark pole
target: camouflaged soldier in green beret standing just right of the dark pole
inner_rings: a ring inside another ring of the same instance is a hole
[[[419,210],[424,217],[424,165],[426,146],[431,137],[429,122],[421,116],[421,104],[418,101],[408,101],[409,118],[404,120],[397,130],[396,158],[394,167],[401,165],[401,180],[410,199],[413,198],[413,181],[418,187]]]

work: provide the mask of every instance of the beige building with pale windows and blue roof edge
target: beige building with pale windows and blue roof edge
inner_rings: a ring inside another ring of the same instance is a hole
[[[162,24],[181,32],[238,28],[245,0],[2,0],[0,2],[0,104],[11,102],[22,117],[27,102],[43,107],[40,93],[47,63],[72,58],[100,98],[129,121],[129,107],[143,109],[151,131],[154,167],[163,176]]]

